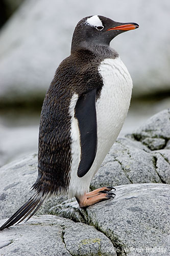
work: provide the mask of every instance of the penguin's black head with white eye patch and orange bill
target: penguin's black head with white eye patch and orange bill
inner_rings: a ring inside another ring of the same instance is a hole
[[[137,23],[119,23],[100,15],[85,17],[75,28],[71,52],[91,45],[109,46],[115,36],[138,27]]]

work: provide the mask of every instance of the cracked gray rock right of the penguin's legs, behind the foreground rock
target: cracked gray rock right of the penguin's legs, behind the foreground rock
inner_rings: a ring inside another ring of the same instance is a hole
[[[170,151],[151,151],[133,136],[127,137],[114,143],[91,181],[91,189],[128,183],[170,183]]]

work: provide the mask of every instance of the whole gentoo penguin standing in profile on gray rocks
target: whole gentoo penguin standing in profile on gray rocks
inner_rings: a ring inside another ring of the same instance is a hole
[[[51,195],[76,197],[81,208],[110,199],[113,187],[89,192],[127,115],[131,76],[110,41],[138,28],[100,15],[80,20],[47,90],[39,126],[35,195],[0,228],[31,218]]]

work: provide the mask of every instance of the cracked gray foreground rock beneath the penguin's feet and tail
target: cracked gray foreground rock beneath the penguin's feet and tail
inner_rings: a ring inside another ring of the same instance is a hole
[[[0,253],[169,255],[169,189],[168,184],[117,186],[115,199],[86,210],[67,200],[49,211],[58,217],[33,217],[0,232]]]

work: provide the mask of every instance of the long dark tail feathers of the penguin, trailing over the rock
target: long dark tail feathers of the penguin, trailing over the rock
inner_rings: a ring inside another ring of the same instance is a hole
[[[19,224],[21,221],[25,220],[29,216],[26,219],[26,221],[28,221],[40,208],[40,206],[42,205],[47,196],[48,194],[35,194],[34,196],[32,196],[27,203],[23,204],[15,212],[15,214],[11,216],[11,218],[0,227],[0,230],[8,228],[14,225],[15,223]]]

